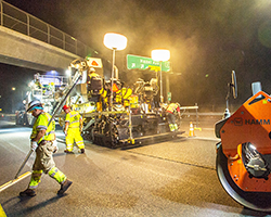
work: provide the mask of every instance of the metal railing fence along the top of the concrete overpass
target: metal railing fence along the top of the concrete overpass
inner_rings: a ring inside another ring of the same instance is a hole
[[[0,0],[0,25],[81,58],[95,52],[73,36],[2,0]]]

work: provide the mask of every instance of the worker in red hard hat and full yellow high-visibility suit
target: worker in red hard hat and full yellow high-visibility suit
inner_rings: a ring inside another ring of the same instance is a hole
[[[72,153],[75,142],[80,152],[83,154],[85,144],[81,137],[82,117],[78,112],[70,111],[70,107],[67,105],[64,105],[63,110],[66,113],[64,128],[64,133],[66,135],[66,150],[64,152]]]

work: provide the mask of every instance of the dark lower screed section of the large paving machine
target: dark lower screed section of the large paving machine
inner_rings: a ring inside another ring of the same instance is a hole
[[[169,130],[166,114],[158,110],[154,113],[132,114],[128,111],[94,115],[93,143],[113,149],[141,144],[146,140],[172,139],[181,133]]]

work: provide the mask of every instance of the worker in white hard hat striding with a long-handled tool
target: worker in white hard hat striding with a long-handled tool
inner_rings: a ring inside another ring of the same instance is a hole
[[[57,194],[63,195],[73,182],[69,181],[66,176],[55,167],[55,163],[53,161],[52,155],[55,150],[55,123],[53,120],[48,126],[51,115],[43,112],[43,106],[39,101],[31,101],[28,104],[27,112],[31,113],[31,115],[36,117],[30,136],[30,146],[33,151],[36,151],[36,159],[33,165],[33,174],[28,188],[25,191],[20,192],[20,196],[36,195],[35,190],[40,182],[42,173],[48,174],[61,184],[61,189],[57,191]]]

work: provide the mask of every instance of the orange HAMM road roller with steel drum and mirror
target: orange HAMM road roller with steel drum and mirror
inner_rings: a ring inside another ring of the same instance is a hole
[[[234,72],[231,89],[236,97]],[[271,212],[271,97],[259,84],[253,84],[253,92],[232,115],[227,106],[224,118],[216,124],[216,136],[221,139],[216,168],[222,187],[236,202]]]

